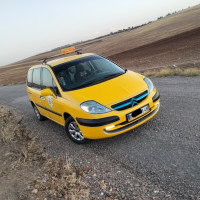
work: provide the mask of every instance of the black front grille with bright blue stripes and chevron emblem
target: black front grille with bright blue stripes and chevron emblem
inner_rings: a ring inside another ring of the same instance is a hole
[[[148,96],[148,90],[138,94],[137,96],[131,97],[130,99],[127,99],[125,101],[122,101],[120,103],[114,104],[111,106],[112,109],[121,111],[125,110],[131,107],[134,107],[135,105],[138,105],[140,102],[142,102],[146,97]]]

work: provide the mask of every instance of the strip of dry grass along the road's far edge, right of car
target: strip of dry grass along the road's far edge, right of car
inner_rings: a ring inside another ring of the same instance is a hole
[[[145,76],[166,77],[166,76],[200,76],[200,68],[163,68],[159,71],[146,71]]]

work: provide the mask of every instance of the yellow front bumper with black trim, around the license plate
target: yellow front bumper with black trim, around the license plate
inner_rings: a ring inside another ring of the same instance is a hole
[[[109,113],[110,116],[102,115],[102,117],[98,119],[76,118],[76,120],[79,123],[81,132],[85,138],[100,139],[113,137],[129,131],[155,116],[160,108],[159,101],[160,95],[155,89],[154,92],[148,95],[147,99],[135,106],[135,108],[127,109],[125,111],[113,111]],[[149,104],[150,107],[148,112],[136,116],[131,121],[127,121],[126,115],[128,113],[137,110],[146,104]]]

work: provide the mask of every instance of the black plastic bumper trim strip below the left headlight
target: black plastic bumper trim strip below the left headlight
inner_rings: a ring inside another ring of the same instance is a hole
[[[111,117],[105,117],[100,119],[82,119],[82,118],[76,118],[78,123],[83,126],[89,126],[89,127],[97,127],[97,126],[104,126],[113,122],[116,122],[119,120],[118,116],[111,116]]]

